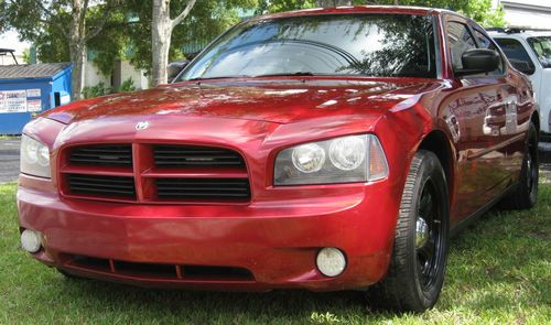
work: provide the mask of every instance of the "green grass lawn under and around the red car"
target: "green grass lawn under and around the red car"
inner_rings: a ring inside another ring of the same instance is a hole
[[[370,311],[358,292],[160,291],[67,280],[20,250],[15,185],[0,185],[0,324],[549,324],[551,184],[540,188],[533,209],[490,212],[455,237],[435,308],[399,315]]]

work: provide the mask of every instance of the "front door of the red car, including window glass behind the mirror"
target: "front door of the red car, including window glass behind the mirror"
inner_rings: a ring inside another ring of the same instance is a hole
[[[462,55],[480,47],[469,22],[456,15],[445,20],[449,71],[463,69]],[[489,74],[452,77],[444,109],[453,116],[458,163],[452,226],[480,209],[507,186],[503,128],[516,101],[501,67]],[[509,107],[510,106],[510,107]]]

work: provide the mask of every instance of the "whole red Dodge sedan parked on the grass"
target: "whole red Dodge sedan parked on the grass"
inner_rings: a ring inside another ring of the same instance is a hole
[[[534,205],[538,112],[445,10],[315,9],[229,30],[170,85],[30,122],[23,248],[66,275],[437,301],[449,238]]]

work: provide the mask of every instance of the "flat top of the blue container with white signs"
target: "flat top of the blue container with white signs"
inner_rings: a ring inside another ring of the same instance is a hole
[[[0,79],[47,78],[57,75],[69,66],[71,63],[0,65]]]

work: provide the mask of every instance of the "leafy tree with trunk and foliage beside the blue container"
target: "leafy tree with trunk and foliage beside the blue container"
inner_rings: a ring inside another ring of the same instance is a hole
[[[47,61],[73,62],[72,90],[78,99],[86,44],[99,34],[119,1],[2,0],[0,31],[17,30]]]

